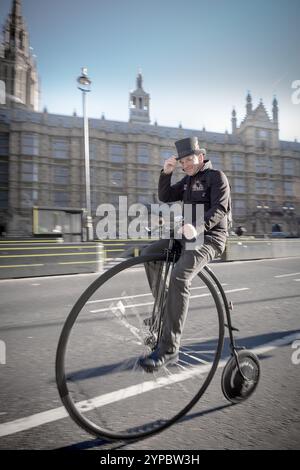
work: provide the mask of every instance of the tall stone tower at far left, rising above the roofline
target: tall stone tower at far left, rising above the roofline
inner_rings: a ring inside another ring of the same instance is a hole
[[[29,47],[29,35],[21,14],[21,0],[13,0],[0,47],[0,80],[5,83],[5,105],[38,111],[39,83]]]

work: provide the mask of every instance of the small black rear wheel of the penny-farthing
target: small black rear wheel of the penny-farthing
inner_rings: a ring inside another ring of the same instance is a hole
[[[225,365],[221,379],[223,394],[232,403],[247,400],[256,390],[260,378],[260,364],[257,356],[247,350],[239,351],[237,354],[241,371],[247,380],[239,372],[233,356]]]

